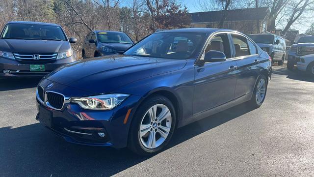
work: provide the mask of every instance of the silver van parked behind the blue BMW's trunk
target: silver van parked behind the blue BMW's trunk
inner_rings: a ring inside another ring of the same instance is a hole
[[[270,33],[251,34],[249,37],[271,57],[272,61],[278,61],[283,65],[286,57],[286,41],[284,38]]]

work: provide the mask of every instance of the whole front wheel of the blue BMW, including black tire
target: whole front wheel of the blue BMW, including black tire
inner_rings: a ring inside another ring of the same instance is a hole
[[[152,120],[150,117],[150,115],[154,115],[150,114],[153,112],[153,110],[157,110],[155,111],[155,115],[157,115],[154,117],[155,120]],[[131,127],[129,133],[128,148],[142,156],[154,155],[160,152],[169,143],[175,130],[175,113],[175,108],[168,98],[161,95],[154,95],[152,97],[149,97],[138,107],[138,110],[135,112],[135,115],[130,125]],[[160,116],[160,114],[164,114],[165,118],[159,123],[159,121],[156,121],[156,119],[158,118],[158,116]],[[166,128],[166,131],[162,131],[164,130],[163,128]],[[142,132],[142,134],[140,133],[140,131]],[[167,131],[168,134],[166,133]],[[161,136],[162,133],[165,138]],[[155,136],[155,144],[150,143],[154,142],[150,141],[150,137],[153,136]]]

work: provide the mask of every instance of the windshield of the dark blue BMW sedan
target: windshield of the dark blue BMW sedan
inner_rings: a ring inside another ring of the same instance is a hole
[[[201,50],[204,38],[204,33],[159,32],[146,37],[124,54],[164,59],[188,59]]]

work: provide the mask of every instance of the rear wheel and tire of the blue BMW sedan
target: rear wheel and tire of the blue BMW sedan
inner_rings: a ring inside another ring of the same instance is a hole
[[[263,89],[260,89],[262,80],[264,82],[262,84]],[[257,96],[258,90],[260,91],[261,98]],[[263,96],[262,96],[262,90],[263,90]],[[261,105],[263,104],[265,100],[266,93],[267,93],[267,79],[264,75],[261,75],[256,82],[256,86],[254,87],[252,98],[250,101],[247,102],[248,103],[247,105],[251,108],[261,107]]]

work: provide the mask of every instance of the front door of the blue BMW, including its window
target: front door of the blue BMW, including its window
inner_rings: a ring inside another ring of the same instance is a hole
[[[227,60],[195,65],[193,113],[197,115],[234,99],[236,62],[231,59],[231,44],[228,33],[216,34],[203,51],[215,50],[225,53]]]

